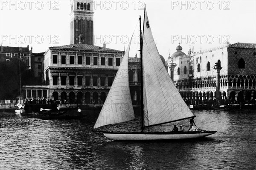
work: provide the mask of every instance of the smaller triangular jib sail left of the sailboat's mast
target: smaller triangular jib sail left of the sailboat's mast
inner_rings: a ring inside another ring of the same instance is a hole
[[[93,128],[135,119],[131,102],[128,75],[128,58],[131,41],[116,73],[107,99]]]

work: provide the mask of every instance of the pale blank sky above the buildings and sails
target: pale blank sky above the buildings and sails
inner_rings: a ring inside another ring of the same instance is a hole
[[[94,45],[124,50],[146,5],[154,40],[167,60],[180,42],[183,52],[233,43],[256,43],[256,0],[96,0]],[[136,29],[137,30],[137,29]],[[138,37],[138,31],[134,37]],[[133,39],[137,42],[137,39]],[[0,43],[33,46],[70,44],[70,0],[0,0]],[[135,45],[136,46],[136,45]],[[135,52],[134,52],[135,53]]]

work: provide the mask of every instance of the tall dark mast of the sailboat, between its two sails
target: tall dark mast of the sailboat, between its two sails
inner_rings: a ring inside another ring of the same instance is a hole
[[[145,9],[144,9],[144,19],[145,19]],[[143,58],[142,58],[142,50],[143,50],[143,37],[141,32],[141,17],[140,17],[140,100],[141,100],[141,132],[144,131],[144,104],[143,104]],[[144,24],[143,24],[143,33],[144,33]],[[143,34],[144,36],[144,34]]]

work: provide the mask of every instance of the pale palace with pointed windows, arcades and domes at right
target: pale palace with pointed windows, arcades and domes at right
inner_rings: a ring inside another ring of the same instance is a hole
[[[256,44],[228,43],[225,46],[187,54],[177,46],[168,59],[177,66],[174,83],[184,99],[214,100],[216,96],[217,72],[213,67],[221,64],[220,96],[231,101],[253,101],[256,99]]]

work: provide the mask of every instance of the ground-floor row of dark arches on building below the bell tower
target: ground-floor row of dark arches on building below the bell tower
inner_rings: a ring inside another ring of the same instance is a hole
[[[61,100],[69,103],[79,103],[79,104],[102,104],[106,100],[105,92],[53,92],[52,97],[54,101]]]

